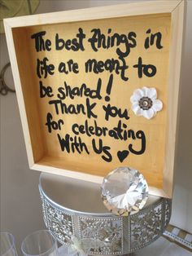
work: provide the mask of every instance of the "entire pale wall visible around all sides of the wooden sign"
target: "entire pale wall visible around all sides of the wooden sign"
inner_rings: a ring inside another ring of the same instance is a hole
[[[133,1],[41,0],[38,13]],[[181,117],[175,171],[172,223],[192,232],[192,1],[188,1],[185,51],[181,78]],[[9,61],[5,36],[0,37],[0,68]],[[11,72],[7,73],[12,84]],[[0,95],[1,113],[1,230],[12,232],[17,244],[29,232],[45,228],[37,190],[39,173],[28,169],[20,115],[15,94]]]

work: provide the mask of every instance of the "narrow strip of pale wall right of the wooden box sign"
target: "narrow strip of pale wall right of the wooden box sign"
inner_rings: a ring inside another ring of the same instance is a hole
[[[172,223],[192,233],[192,1],[187,1]]]

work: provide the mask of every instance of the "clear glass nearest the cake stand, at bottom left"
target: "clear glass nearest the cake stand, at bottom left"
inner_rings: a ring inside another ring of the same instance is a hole
[[[53,233],[49,230],[39,230],[25,237],[21,245],[24,256],[57,256],[58,245]]]

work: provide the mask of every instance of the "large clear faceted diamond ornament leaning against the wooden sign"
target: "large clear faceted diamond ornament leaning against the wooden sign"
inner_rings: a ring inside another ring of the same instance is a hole
[[[142,174],[130,167],[119,167],[103,179],[102,199],[113,214],[128,216],[142,209],[148,191]]]

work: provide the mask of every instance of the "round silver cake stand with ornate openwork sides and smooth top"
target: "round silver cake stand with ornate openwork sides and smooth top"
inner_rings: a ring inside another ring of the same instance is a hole
[[[89,255],[133,255],[161,236],[171,217],[171,200],[157,196],[137,214],[115,216],[103,205],[99,184],[55,174],[41,174],[39,190],[46,227],[61,244],[72,245],[72,236],[105,242]]]

